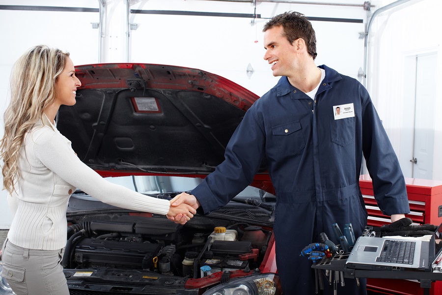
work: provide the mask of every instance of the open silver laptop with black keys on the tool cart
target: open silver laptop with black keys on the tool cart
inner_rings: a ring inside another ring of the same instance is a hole
[[[442,254],[442,248],[439,249],[441,238],[442,224],[429,241],[413,237],[360,236],[345,265],[368,270],[431,271],[431,266]]]

